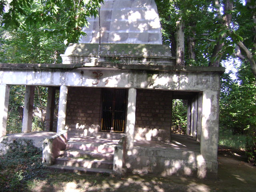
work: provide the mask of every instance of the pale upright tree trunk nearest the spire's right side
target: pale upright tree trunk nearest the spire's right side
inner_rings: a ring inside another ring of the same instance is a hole
[[[176,65],[184,66],[184,20],[176,22]]]

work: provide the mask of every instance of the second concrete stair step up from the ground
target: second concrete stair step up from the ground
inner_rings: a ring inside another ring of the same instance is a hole
[[[74,166],[74,167],[84,167],[84,168],[103,168],[112,169],[113,161],[109,160],[88,160],[85,158],[68,158],[68,157],[58,157],[55,159],[55,164]]]

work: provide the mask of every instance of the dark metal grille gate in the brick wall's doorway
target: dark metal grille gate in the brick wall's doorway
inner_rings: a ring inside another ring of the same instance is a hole
[[[126,89],[102,89],[101,131],[124,132]]]

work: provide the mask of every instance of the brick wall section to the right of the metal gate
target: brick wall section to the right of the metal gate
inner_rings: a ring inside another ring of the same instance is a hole
[[[172,92],[137,90],[136,140],[170,141]]]

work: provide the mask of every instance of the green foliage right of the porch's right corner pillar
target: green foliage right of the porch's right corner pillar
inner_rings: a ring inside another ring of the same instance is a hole
[[[220,92],[220,128],[246,134],[248,159],[256,163],[256,79],[242,62],[233,80],[223,74]]]

